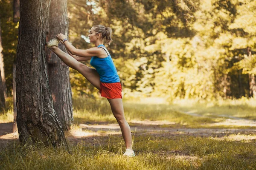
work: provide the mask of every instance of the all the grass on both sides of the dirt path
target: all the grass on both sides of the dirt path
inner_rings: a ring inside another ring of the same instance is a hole
[[[10,100],[11,101],[11,100]],[[10,102],[11,103],[11,102]],[[159,125],[158,128],[209,128],[209,129],[254,129],[249,126],[210,126],[215,122],[224,122],[226,117],[218,116],[230,111],[228,115],[254,115],[253,101],[226,101],[215,105],[199,102],[173,103],[172,105],[140,104],[124,102],[125,118],[130,125],[135,120],[175,122],[172,125]],[[250,103],[250,105],[249,105]],[[232,108],[234,107],[234,108]],[[181,111],[197,109],[192,116]],[[215,111],[215,114],[209,114]],[[86,98],[73,99],[74,125],[116,123],[108,101]],[[207,114],[208,113],[208,114]],[[246,118],[246,116],[240,117]],[[12,119],[12,107],[0,116],[2,122]],[[87,130],[90,131],[90,130]],[[93,132],[93,131],[91,131]],[[140,130],[132,132],[134,137],[134,158],[122,157],[125,144],[122,136],[99,130],[101,136],[84,138],[83,142],[72,142],[70,150],[64,147],[53,148],[37,143],[32,146],[20,146],[17,141],[0,147],[0,169],[20,170],[250,170],[256,169],[256,136],[234,133],[186,133],[182,130],[170,133],[165,131]],[[90,141],[87,142],[86,141]]]

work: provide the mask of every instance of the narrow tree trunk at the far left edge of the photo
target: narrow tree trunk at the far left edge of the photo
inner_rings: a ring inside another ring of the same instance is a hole
[[[0,23],[1,25],[1,23]],[[7,90],[6,90],[6,83],[5,83],[5,75],[4,75],[4,63],[3,63],[3,46],[2,46],[2,30],[1,30],[1,26],[0,26],[0,70],[1,70],[1,82],[2,82],[2,92],[4,95],[4,98],[7,98]]]

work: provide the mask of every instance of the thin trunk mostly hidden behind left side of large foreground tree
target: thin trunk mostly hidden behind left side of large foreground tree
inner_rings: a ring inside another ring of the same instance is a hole
[[[20,20],[20,0],[13,0],[13,22],[17,23]],[[12,64],[12,91],[13,91],[13,133],[17,130],[17,105],[16,105],[16,57]]]

